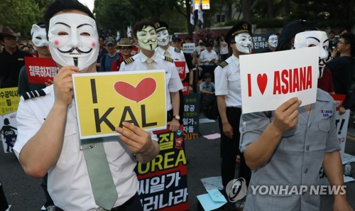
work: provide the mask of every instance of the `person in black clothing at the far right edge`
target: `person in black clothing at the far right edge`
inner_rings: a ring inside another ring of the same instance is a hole
[[[337,53],[340,56],[334,58]],[[339,113],[343,114],[345,109],[349,109],[351,97],[351,83],[354,74],[354,57],[355,56],[355,35],[354,33],[343,33],[337,43],[336,50],[332,51],[330,61],[326,67],[330,69],[333,77],[333,85],[335,94],[346,94],[343,107],[339,108]]]

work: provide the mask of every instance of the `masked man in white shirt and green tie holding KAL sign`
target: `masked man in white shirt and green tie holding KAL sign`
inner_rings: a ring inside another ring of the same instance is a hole
[[[126,129],[115,128],[120,136],[80,140],[75,126],[72,74],[97,72],[94,15],[77,0],[56,0],[43,19],[60,70],[53,85],[21,97],[13,151],[23,171],[35,178],[48,172],[48,192],[62,210],[143,211],[134,168],[137,161],[147,163],[158,155],[156,136],[124,121]]]

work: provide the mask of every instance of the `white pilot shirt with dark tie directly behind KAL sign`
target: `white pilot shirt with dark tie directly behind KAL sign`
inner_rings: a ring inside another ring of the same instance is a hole
[[[165,56],[158,55],[157,53],[154,53],[152,58],[154,70],[165,70],[166,111],[168,112],[173,109],[170,92],[178,92],[179,90],[182,90],[182,82],[173,61],[169,61],[169,59],[165,60]],[[147,59],[148,57],[140,52],[133,55],[133,57],[124,60],[124,62],[121,63],[119,71],[148,70],[148,63],[146,63]]]

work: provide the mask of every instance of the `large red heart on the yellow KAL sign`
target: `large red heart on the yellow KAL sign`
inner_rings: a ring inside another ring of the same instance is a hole
[[[155,92],[156,82],[151,77],[146,77],[133,87],[128,82],[118,81],[114,84],[114,90],[121,94],[122,97],[131,99],[135,102],[141,102]]]

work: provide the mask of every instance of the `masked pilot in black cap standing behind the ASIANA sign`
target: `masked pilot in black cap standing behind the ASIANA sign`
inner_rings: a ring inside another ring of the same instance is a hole
[[[223,194],[226,186],[235,178],[236,158],[239,157],[239,178],[249,184],[251,171],[246,166],[244,155],[239,151],[239,119],[241,117],[241,77],[239,56],[251,53],[251,24],[241,21],[226,34],[226,41],[233,54],[220,63],[214,70],[215,94],[219,111],[219,130],[221,131],[221,175]],[[227,202],[227,209],[235,210],[234,203]]]

